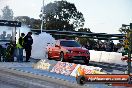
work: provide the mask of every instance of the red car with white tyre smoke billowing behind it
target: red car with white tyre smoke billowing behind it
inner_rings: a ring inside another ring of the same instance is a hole
[[[90,60],[89,50],[81,47],[74,40],[56,40],[55,46],[47,47],[47,51],[48,59],[57,59],[60,61],[83,60],[85,64],[88,64]]]

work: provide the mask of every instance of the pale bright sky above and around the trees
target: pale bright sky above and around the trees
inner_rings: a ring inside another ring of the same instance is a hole
[[[45,5],[55,0],[44,0]],[[59,1],[59,0],[56,0]],[[122,24],[132,22],[132,0],[67,0],[85,18],[84,27],[95,33],[120,33]],[[0,0],[0,9],[9,5],[14,16],[39,18],[43,0]],[[0,12],[0,15],[2,12]]]

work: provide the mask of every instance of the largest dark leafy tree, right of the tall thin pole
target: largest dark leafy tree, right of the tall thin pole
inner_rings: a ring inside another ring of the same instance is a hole
[[[83,27],[85,20],[73,3],[62,0],[49,3],[44,7],[44,21],[47,30],[73,31]]]

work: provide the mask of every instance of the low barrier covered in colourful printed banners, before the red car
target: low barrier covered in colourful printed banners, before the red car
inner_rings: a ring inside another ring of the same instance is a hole
[[[86,74],[105,74],[101,72],[102,68],[100,67],[86,66],[60,61],[56,62],[53,60],[40,60],[33,65],[33,68],[68,76],[76,76],[79,69],[83,69]]]

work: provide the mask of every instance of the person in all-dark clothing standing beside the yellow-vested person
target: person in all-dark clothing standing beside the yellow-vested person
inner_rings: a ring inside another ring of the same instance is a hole
[[[31,56],[31,50],[32,50],[32,44],[33,44],[33,38],[32,38],[32,32],[28,32],[28,34],[24,37],[24,48],[26,51],[26,62],[30,62],[30,56]]]

